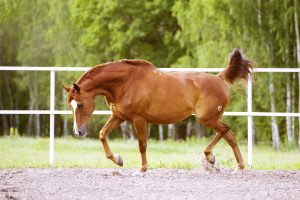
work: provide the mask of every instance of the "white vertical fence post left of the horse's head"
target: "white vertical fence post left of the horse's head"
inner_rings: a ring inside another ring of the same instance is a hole
[[[49,162],[54,164],[54,123],[55,123],[55,71],[50,71],[50,146],[49,146]]]

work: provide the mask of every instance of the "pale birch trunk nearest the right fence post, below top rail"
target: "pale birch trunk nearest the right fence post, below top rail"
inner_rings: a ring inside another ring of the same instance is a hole
[[[272,73],[270,73],[269,93],[270,93],[271,112],[276,112],[275,97],[274,97],[274,83],[273,83]],[[271,120],[272,120],[272,144],[273,144],[273,148],[275,150],[279,150],[280,137],[279,137],[279,130],[278,130],[277,120],[276,120],[275,117],[271,117]]]

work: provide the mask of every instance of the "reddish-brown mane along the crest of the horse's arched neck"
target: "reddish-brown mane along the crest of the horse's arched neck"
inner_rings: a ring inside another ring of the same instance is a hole
[[[139,59],[122,59],[122,60],[117,60],[114,62],[107,62],[107,63],[102,63],[99,65],[95,65],[93,68],[89,69],[86,71],[77,81],[77,84],[80,84],[83,80],[86,79],[93,79],[93,75],[99,73],[101,70],[103,70],[106,67],[114,67],[119,64],[126,63],[131,66],[152,66],[155,67],[152,63],[145,61],[145,60],[139,60]]]

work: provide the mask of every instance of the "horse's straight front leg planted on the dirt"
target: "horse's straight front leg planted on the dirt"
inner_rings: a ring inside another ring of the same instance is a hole
[[[139,142],[139,150],[142,158],[141,169],[137,173],[146,172],[148,169],[147,165],[147,121],[143,118],[137,118],[133,120],[133,125]]]

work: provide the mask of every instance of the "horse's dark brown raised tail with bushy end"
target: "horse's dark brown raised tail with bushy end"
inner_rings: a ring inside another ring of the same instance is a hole
[[[248,58],[245,58],[240,50],[234,49],[229,55],[227,67],[222,71],[221,76],[225,81],[234,84],[235,81],[242,79],[247,80],[255,67],[255,63]]]

